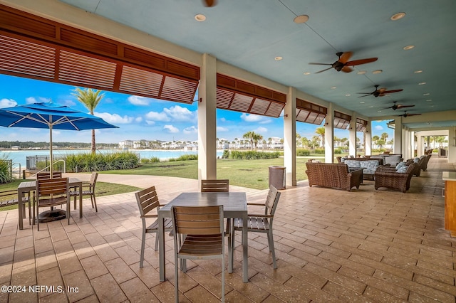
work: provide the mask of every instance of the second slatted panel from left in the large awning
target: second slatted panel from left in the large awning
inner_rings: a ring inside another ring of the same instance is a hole
[[[66,50],[60,52],[58,80],[113,90],[116,64]]]

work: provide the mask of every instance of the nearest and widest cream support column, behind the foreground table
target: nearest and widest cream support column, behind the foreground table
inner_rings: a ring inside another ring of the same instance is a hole
[[[198,180],[217,179],[217,60],[202,55],[198,97]]]

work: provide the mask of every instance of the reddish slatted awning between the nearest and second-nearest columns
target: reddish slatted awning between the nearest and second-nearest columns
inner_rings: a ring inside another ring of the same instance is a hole
[[[279,117],[285,103],[281,92],[217,74],[217,108]]]

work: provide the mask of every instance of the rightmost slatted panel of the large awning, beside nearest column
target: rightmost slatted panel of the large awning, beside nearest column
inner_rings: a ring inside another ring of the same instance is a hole
[[[191,104],[197,91],[198,83],[167,76],[163,84],[160,99]]]

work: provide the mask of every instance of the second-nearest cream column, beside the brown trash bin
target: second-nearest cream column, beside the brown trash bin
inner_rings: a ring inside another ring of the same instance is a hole
[[[296,88],[289,87],[284,107],[284,166],[286,186],[296,186]]]

